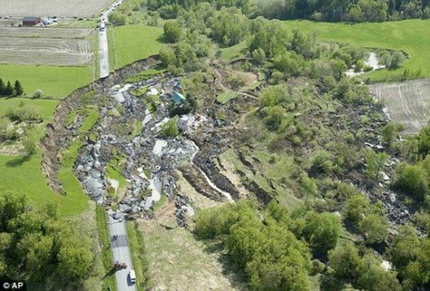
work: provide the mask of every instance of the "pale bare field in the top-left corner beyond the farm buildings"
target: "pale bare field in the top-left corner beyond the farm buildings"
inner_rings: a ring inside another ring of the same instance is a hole
[[[91,17],[112,0],[0,0],[0,16]]]

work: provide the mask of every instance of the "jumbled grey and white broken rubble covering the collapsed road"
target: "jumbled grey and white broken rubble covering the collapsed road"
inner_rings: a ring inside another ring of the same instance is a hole
[[[233,198],[238,197],[229,180],[210,165],[209,156],[219,155],[222,147],[229,145],[214,130],[214,127],[222,126],[218,119],[193,114],[182,116],[178,127],[183,135],[162,136],[161,129],[170,120],[168,107],[171,100],[166,92],[171,92],[173,89],[170,86],[175,83],[175,80],[164,82],[155,78],[125,86],[114,85],[108,89],[110,104],[98,108],[99,121],[94,130],[97,142],[87,138],[87,144],[81,148],[75,164],[75,174],[92,200],[110,203],[106,168],[114,158],[114,151],[115,155],[126,159],[121,174],[128,183],[117,213],[130,215],[143,211],[147,216],[154,204],[165,195],[175,202],[178,224],[186,226],[186,217],[194,211],[186,195],[176,190],[174,173],[177,169],[184,172],[186,179],[196,185],[199,192],[214,200],[229,201],[230,194]],[[143,87],[153,95],[161,91],[155,110],[148,106],[148,95],[136,97],[130,93]],[[141,132],[130,136],[133,132],[130,124],[136,120],[142,125]],[[203,146],[204,155],[199,155],[201,149],[192,136],[203,136],[205,139],[195,138]],[[194,164],[193,160],[197,162]],[[201,162],[203,160],[204,163]],[[201,169],[201,166],[204,168]]]

